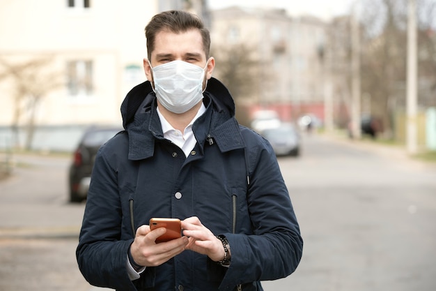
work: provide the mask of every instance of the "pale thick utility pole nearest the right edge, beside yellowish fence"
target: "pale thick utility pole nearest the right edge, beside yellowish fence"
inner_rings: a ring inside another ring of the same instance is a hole
[[[406,145],[409,154],[417,152],[416,100],[417,71],[416,59],[416,0],[409,0],[407,16],[407,133]]]

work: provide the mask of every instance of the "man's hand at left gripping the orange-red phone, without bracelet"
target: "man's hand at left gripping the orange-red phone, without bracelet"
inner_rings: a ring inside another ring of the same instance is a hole
[[[165,227],[159,227],[153,231],[150,231],[149,225],[139,227],[132,246],[130,246],[134,262],[145,267],[156,267],[185,251],[185,247],[189,243],[187,237],[156,244],[157,237],[165,232]]]

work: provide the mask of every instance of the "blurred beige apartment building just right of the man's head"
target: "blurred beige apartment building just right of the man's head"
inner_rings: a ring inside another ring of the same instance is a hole
[[[322,20],[290,17],[282,9],[234,6],[212,11],[212,46],[252,47],[258,62],[256,90],[238,97],[239,105],[251,111],[274,109],[285,120],[306,113],[324,117],[325,36]]]

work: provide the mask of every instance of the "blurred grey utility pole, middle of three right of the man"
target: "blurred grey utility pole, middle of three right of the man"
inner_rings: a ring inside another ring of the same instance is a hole
[[[360,112],[360,32],[359,21],[357,20],[356,2],[352,6],[351,13],[351,132],[352,137],[359,139],[361,137],[361,112]]]

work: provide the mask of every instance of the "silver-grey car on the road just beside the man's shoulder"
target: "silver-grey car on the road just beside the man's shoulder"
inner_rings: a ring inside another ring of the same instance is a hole
[[[262,135],[270,142],[277,156],[299,156],[301,138],[291,124],[267,128],[262,131]]]

